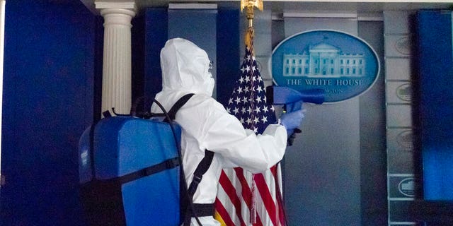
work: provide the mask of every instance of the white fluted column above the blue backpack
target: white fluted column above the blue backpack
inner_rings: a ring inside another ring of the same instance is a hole
[[[129,114],[131,107],[131,20],[134,1],[96,1],[104,18],[104,53],[101,111]]]

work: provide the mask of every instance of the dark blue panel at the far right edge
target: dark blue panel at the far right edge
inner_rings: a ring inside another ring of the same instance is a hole
[[[452,12],[417,16],[423,195],[453,201]]]

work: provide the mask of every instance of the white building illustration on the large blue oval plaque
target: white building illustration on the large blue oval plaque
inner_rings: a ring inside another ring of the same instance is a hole
[[[326,42],[309,46],[302,54],[283,54],[283,76],[340,78],[365,76],[364,54],[344,54]]]

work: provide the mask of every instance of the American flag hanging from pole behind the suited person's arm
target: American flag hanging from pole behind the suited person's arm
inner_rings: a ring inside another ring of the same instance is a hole
[[[263,133],[276,121],[272,105],[268,105],[265,86],[253,54],[253,30],[247,35],[239,79],[229,98],[226,110],[234,114],[246,129]],[[223,169],[215,202],[215,218],[222,225],[285,225],[281,196],[280,168],[251,174],[241,168]]]

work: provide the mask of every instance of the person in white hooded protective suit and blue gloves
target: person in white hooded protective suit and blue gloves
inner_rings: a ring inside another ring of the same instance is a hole
[[[193,195],[193,203],[212,204],[217,196],[217,184],[222,168],[242,167],[257,173],[282,160],[287,145],[287,130],[302,122],[302,111],[281,118],[281,124],[270,124],[262,134],[244,129],[239,119],[226,112],[211,97],[214,79],[210,73],[207,53],[188,40],[168,40],[161,49],[162,90],[155,99],[170,109],[183,95],[194,93],[176,113],[181,126],[181,153],[188,184],[193,181],[195,168],[205,156],[205,149],[214,153],[212,163],[203,174]],[[155,104],[151,112],[160,113]],[[196,214],[196,213],[195,213]],[[204,226],[220,225],[210,216],[199,216]],[[191,225],[198,225],[195,218]]]

